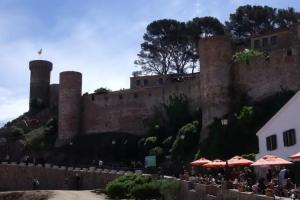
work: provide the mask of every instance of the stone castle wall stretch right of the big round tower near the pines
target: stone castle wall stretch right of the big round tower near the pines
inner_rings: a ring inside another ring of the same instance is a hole
[[[233,83],[237,91],[247,95],[253,101],[259,101],[277,92],[300,89],[300,51],[290,49],[270,51],[265,56],[252,58],[247,64],[239,62],[233,65]]]

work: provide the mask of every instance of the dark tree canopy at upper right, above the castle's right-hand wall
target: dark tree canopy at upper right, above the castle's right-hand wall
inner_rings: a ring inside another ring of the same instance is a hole
[[[225,24],[235,40],[245,40],[253,34],[287,28],[299,20],[300,13],[293,8],[245,5],[230,14],[229,21]]]

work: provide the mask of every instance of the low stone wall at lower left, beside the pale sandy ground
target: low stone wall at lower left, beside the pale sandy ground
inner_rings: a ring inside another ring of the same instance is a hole
[[[25,163],[0,164],[0,191],[31,190],[33,179],[38,179],[41,190],[104,189],[113,179],[130,172],[101,170],[94,167],[67,168],[50,164],[34,166]],[[76,180],[76,174],[79,179]]]

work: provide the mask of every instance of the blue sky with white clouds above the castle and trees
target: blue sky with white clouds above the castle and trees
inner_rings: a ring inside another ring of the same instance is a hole
[[[1,0],[0,125],[28,110],[30,60],[53,62],[52,83],[59,72],[76,70],[84,92],[127,88],[151,21],[214,16],[224,22],[245,4],[300,11],[299,0]]]

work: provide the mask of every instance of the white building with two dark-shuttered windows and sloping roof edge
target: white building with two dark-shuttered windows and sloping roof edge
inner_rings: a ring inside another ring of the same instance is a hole
[[[284,159],[300,151],[300,91],[295,94],[257,133],[259,153]]]

